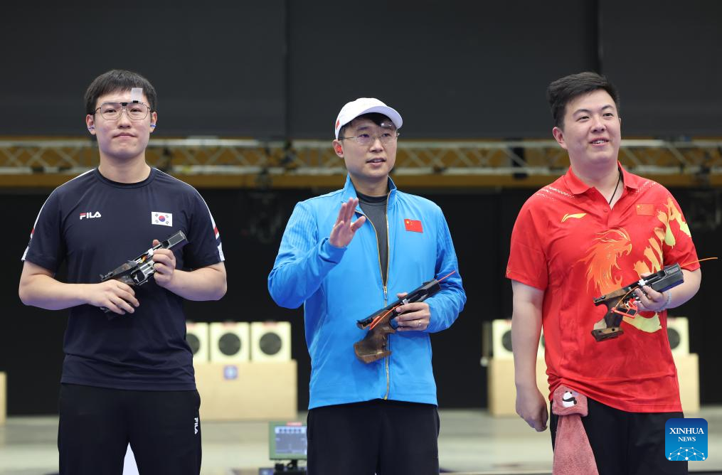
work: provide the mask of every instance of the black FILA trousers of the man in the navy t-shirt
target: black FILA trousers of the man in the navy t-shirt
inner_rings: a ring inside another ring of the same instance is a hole
[[[198,391],[123,391],[62,384],[61,475],[121,475],[130,443],[141,475],[198,475]]]

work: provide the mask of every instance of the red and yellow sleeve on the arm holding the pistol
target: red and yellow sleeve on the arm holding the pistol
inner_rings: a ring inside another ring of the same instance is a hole
[[[690,226],[684,219],[682,208],[679,207],[677,200],[669,191],[666,192],[663,206],[658,208],[657,212],[660,221],[666,223],[662,241],[664,265],[671,266],[679,263],[688,271],[699,269],[700,263],[697,262],[697,250],[695,244],[692,243]]]

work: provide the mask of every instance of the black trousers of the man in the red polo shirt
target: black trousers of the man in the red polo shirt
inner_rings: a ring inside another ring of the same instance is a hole
[[[687,462],[668,461],[664,449],[664,424],[684,417],[682,412],[626,412],[590,398],[587,402],[582,423],[599,475],[687,475]],[[552,447],[558,420],[552,412]]]

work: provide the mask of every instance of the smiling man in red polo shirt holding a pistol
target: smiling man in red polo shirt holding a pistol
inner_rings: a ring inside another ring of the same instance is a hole
[[[582,422],[599,474],[686,474],[686,462],[664,458],[664,424],[682,417],[666,310],[690,300],[701,280],[689,227],[664,186],[619,164],[619,96],[606,78],[563,77],[547,98],[571,167],[526,201],[511,236],[516,411],[546,429],[535,378],[543,325],[550,392],[565,385],[586,396]],[[606,313],[594,297],[674,263],[683,284],[635,291],[640,313],[624,318],[624,333],[594,339]],[[556,423],[552,414],[552,443]]]

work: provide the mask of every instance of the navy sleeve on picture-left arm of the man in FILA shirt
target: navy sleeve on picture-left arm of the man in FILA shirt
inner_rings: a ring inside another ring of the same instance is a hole
[[[54,274],[66,254],[61,223],[60,197],[57,191],[53,191],[35,218],[35,224],[30,231],[30,242],[27,243],[22,260],[37,264]]]

